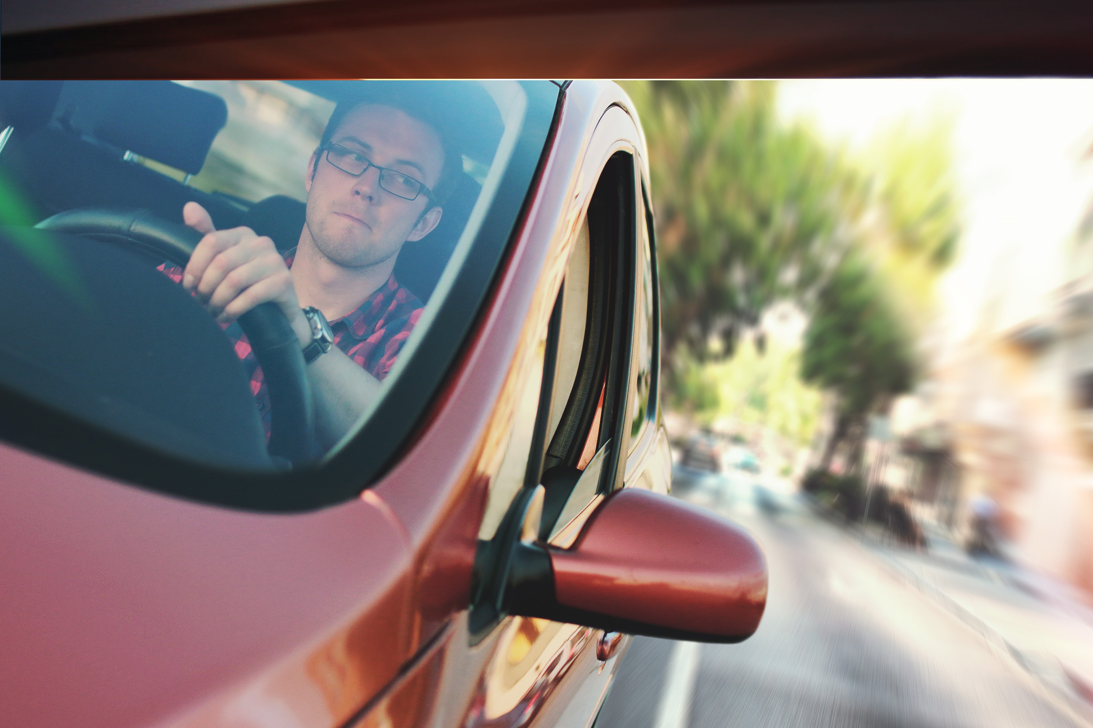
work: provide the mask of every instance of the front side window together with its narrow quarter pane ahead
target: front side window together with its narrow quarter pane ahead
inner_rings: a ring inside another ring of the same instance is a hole
[[[568,518],[597,494],[621,484],[620,454],[627,451],[630,439],[625,419],[634,320],[633,180],[633,156],[616,153],[577,226],[549,331],[537,354],[540,368],[520,385],[514,426],[506,434],[508,445],[479,529],[481,540],[493,538],[521,485],[541,483],[546,490],[540,531],[546,538],[555,525],[564,525],[559,522],[563,515]],[[538,453],[532,422],[540,430]]]

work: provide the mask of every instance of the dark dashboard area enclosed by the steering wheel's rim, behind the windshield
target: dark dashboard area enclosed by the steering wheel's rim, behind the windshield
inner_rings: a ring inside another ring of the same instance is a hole
[[[28,256],[27,247],[49,255]],[[227,337],[128,250],[0,227],[0,388],[178,457],[272,469],[250,383]],[[21,442],[0,412],[0,432]]]

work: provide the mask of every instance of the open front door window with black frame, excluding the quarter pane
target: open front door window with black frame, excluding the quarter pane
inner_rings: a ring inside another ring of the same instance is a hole
[[[541,540],[561,543],[566,533],[575,536],[591,513],[588,506],[621,485],[620,455],[630,437],[634,191],[633,156],[616,153],[589,201],[555,307],[557,364],[539,480]]]

